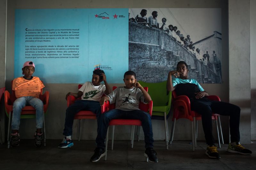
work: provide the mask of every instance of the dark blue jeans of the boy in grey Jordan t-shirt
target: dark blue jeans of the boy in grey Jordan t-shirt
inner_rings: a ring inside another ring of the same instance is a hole
[[[123,111],[120,109],[113,109],[100,115],[96,138],[97,147],[105,149],[108,124],[112,119],[139,119],[142,122],[145,148],[153,148],[154,139],[150,115],[142,110]]]

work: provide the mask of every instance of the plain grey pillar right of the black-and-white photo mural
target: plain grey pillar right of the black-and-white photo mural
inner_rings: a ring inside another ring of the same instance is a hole
[[[230,0],[229,101],[241,108],[241,142],[251,142],[250,1]],[[248,10],[246,10],[248,9]],[[246,68],[246,69],[245,69]]]

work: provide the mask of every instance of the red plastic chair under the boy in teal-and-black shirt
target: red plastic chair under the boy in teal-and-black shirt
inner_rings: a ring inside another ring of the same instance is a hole
[[[220,101],[220,98],[218,96],[212,95],[212,96],[206,96],[210,100]],[[190,107],[190,100],[188,96],[180,95],[177,96],[176,92],[172,92],[172,101],[173,101],[173,116],[172,116],[172,133],[170,138],[170,144],[172,144],[173,141],[173,135],[174,135],[174,129],[175,129],[175,123],[176,120],[180,118],[185,118],[191,121],[192,125],[192,150],[195,151],[196,147],[196,138],[197,138],[197,124],[198,120],[202,120],[202,116],[198,114],[197,112],[191,110]],[[218,143],[220,148],[220,137],[221,142],[224,144],[223,136],[222,136],[222,129],[220,124],[220,115],[216,113],[212,113],[212,120],[215,120],[216,123],[216,130],[218,135]],[[219,128],[218,124],[220,126],[220,135],[219,135]]]

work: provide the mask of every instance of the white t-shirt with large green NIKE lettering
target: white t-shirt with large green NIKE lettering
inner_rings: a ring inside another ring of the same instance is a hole
[[[94,101],[100,101],[100,98],[104,94],[105,90],[106,90],[105,85],[101,84],[99,86],[95,86],[90,81],[85,82],[82,85],[82,87],[79,89],[79,91],[83,92],[83,95],[81,97],[82,100],[94,100]]]

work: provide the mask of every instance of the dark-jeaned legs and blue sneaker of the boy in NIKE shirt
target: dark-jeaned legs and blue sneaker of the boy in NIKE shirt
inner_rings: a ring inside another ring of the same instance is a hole
[[[82,110],[89,110],[96,114],[97,122],[101,114],[101,107],[98,101],[92,100],[76,100],[74,104],[69,106],[66,110],[65,128],[63,130],[63,141],[59,144],[58,148],[68,148],[74,145],[72,141],[72,127],[75,115]]]

